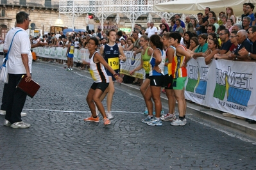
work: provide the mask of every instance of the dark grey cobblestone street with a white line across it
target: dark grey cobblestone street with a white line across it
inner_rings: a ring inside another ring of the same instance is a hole
[[[141,94],[115,86],[112,124],[84,122],[87,72],[33,63],[41,88],[24,106],[27,129],[0,126],[0,169],[255,169],[250,137],[224,133],[187,115],[184,127],[149,127],[141,122]],[[3,89],[3,83],[0,83]],[[0,91],[2,95],[3,91]],[[103,101],[105,105],[105,100]],[[164,105],[166,107],[166,104]],[[3,122],[4,116],[0,116]]]

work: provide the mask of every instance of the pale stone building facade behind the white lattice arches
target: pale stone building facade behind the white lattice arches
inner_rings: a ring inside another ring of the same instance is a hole
[[[0,36],[5,37],[6,33],[15,24],[15,15],[18,12],[24,11],[30,13],[30,29],[27,30],[28,34],[36,36],[39,33],[55,33],[65,28],[72,27],[72,19],[67,15],[59,13],[59,1],[58,0],[0,0]],[[100,24],[98,19],[89,20],[89,24],[85,22],[85,16],[87,13],[80,15],[74,22],[74,27],[77,29],[97,29]],[[110,15],[105,21],[103,29],[109,29],[111,27],[126,27],[131,28],[131,23],[122,14],[120,15],[119,25],[115,23],[115,15]],[[160,22],[160,18],[157,15],[153,15]],[[143,15],[137,23],[142,24],[142,27],[146,27],[147,16]],[[87,27],[89,26],[89,27]],[[129,34],[129,33],[128,33]]]

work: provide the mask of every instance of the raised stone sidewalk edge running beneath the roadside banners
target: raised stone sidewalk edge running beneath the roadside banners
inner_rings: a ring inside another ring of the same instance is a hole
[[[115,84],[115,86],[119,86],[119,84]],[[122,83],[119,87],[123,89],[128,88],[134,91],[138,91],[138,93],[140,93],[139,86],[136,85]],[[168,100],[165,94],[161,93],[161,101],[167,105]],[[191,112],[195,116],[203,118],[204,120],[213,121],[215,123],[218,123],[219,125],[233,128],[235,130],[243,132],[244,134],[252,135],[253,137],[256,136],[256,124],[250,124],[245,120],[239,120],[237,118],[225,117],[222,115],[222,111],[218,111],[216,109],[209,109],[208,107],[203,107],[202,105],[196,105],[195,103],[191,103],[187,100],[187,113]]]

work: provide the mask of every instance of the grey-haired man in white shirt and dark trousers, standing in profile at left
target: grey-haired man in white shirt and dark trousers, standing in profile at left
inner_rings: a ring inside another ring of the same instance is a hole
[[[16,15],[17,25],[14,29],[11,29],[4,42],[4,52],[8,52],[10,44],[12,47],[8,54],[8,86],[7,91],[7,104],[6,115],[3,125],[12,128],[29,128],[30,124],[24,123],[21,120],[21,111],[26,102],[26,93],[17,89],[16,86],[21,80],[22,75],[26,75],[26,82],[31,81],[31,66],[32,66],[32,54],[30,38],[25,31],[30,25],[29,14],[26,12],[19,12]],[[21,30],[21,31],[19,31]],[[19,32],[17,32],[19,31]],[[15,33],[17,33],[15,35]],[[15,35],[15,36],[14,36]],[[13,42],[12,42],[13,39]],[[32,47],[38,47],[39,44],[32,45]],[[41,46],[41,45],[40,45]]]

